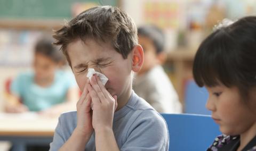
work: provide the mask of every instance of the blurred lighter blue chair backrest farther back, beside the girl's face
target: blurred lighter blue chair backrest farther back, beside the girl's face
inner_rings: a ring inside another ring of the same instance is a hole
[[[188,80],[185,88],[184,113],[211,115],[205,104],[209,94],[205,87],[198,87],[194,80]]]

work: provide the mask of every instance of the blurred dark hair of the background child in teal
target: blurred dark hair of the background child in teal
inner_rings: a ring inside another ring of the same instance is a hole
[[[35,45],[35,53],[42,54],[49,57],[52,61],[59,63],[65,60],[65,58],[57,46],[52,44],[53,42],[54,41],[51,37],[41,37]]]

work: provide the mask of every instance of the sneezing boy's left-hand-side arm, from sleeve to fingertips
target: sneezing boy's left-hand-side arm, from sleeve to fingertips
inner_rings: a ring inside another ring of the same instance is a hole
[[[88,94],[87,86],[90,81],[87,80],[84,86],[81,98],[77,102],[77,125],[69,139],[65,142],[63,136],[67,131],[61,131],[61,120],[55,130],[53,142],[50,150],[84,150],[87,142],[90,140],[92,128],[91,115],[91,96]],[[63,125],[65,127],[65,125]],[[67,125],[68,127],[68,125]]]

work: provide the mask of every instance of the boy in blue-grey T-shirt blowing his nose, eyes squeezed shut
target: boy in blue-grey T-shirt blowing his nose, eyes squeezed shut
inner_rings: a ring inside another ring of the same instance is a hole
[[[54,38],[83,94],[77,112],[60,116],[50,150],[168,150],[164,119],[132,90],[143,50],[126,13],[117,7],[93,7]],[[95,75],[86,77],[89,68],[106,75],[105,86]]]

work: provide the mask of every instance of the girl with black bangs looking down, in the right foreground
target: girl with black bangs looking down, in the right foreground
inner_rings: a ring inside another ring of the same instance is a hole
[[[223,20],[199,47],[193,74],[225,134],[207,150],[256,150],[256,17]]]

